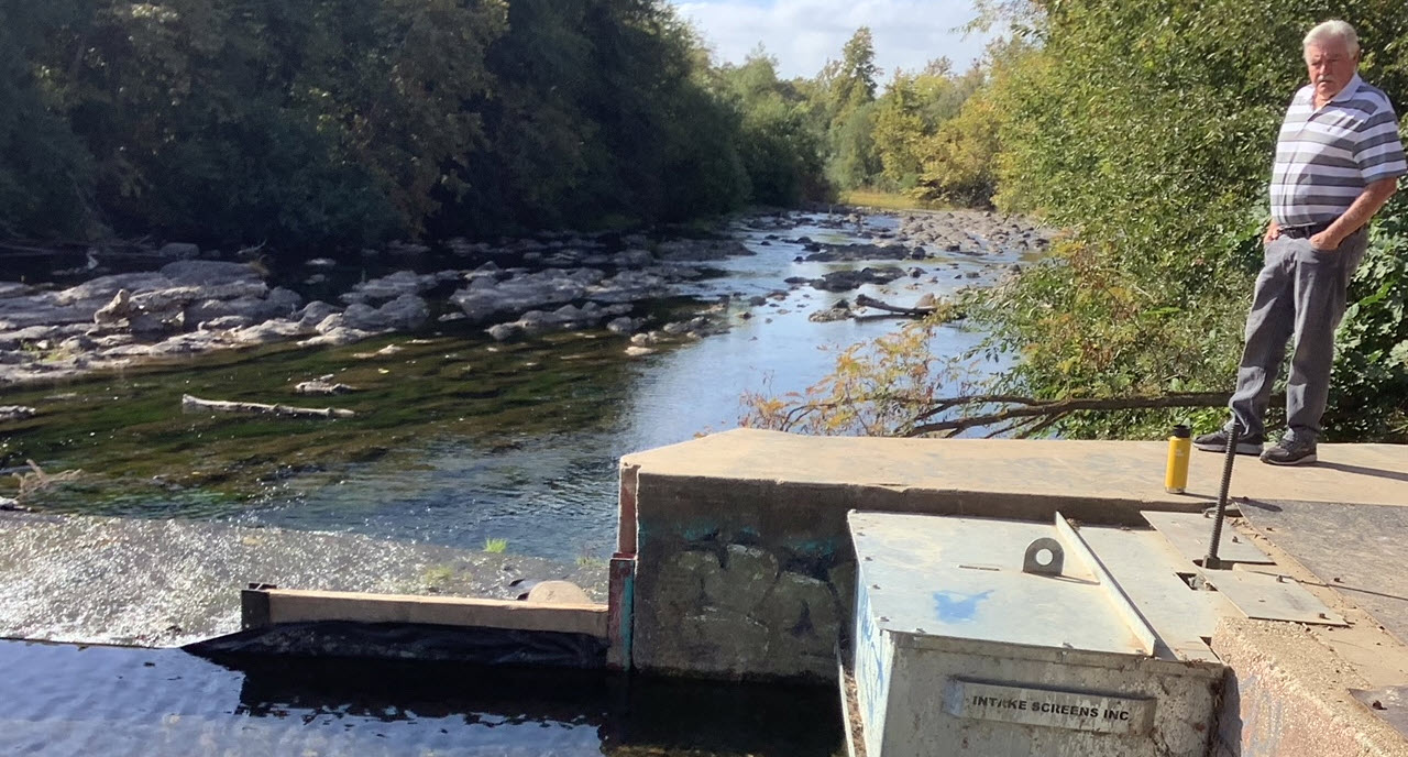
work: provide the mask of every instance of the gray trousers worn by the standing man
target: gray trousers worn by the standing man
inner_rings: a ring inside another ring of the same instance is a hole
[[[1252,312],[1246,317],[1246,348],[1236,371],[1232,415],[1243,436],[1266,433],[1263,416],[1286,357],[1295,345],[1286,383],[1288,438],[1315,442],[1329,400],[1335,360],[1335,329],[1345,317],[1345,297],[1354,269],[1369,246],[1369,231],[1350,234],[1333,252],[1311,248],[1309,239],[1278,236],[1266,245],[1266,265],[1256,277]]]

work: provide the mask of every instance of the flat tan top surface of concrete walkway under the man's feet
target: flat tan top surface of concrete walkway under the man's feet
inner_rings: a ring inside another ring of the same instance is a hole
[[[735,429],[628,454],[670,477],[1125,501],[1194,509],[1217,501],[1222,454],[1193,450],[1187,494],[1163,490],[1167,442],[883,439]],[[1321,445],[1314,466],[1238,456],[1232,497],[1408,505],[1408,446]]]

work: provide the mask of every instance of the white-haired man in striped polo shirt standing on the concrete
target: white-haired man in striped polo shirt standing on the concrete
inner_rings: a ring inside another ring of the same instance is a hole
[[[1408,173],[1388,98],[1359,73],[1359,35],[1325,21],[1305,35],[1311,83],[1295,93],[1281,124],[1271,170],[1271,222],[1264,267],[1246,318],[1246,348],[1232,394],[1240,426],[1238,453],[1276,466],[1315,462],[1321,415],[1329,398],[1335,329],[1354,267],[1364,256],[1369,220]],[[1295,345],[1286,386],[1286,435],[1264,453],[1262,416],[1286,356]],[[1226,450],[1228,428],[1194,440]]]

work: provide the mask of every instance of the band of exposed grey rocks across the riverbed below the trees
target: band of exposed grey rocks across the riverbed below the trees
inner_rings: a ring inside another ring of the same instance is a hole
[[[1039,250],[1052,236],[1025,220],[976,211],[900,214],[895,228],[876,227],[872,218],[849,211],[755,215],[707,239],[560,232],[494,243],[452,239],[439,255],[398,243],[363,256],[403,259],[406,269],[360,280],[331,301],[306,298],[296,283],[270,281],[259,260],[206,259],[218,253],[166,245],[148,255],[161,263],[153,270],[100,274],[63,288],[0,281],[0,386],[272,342],[346,345],[456,321],[497,341],[605,326],[631,338],[624,345],[629,355],[642,355],[650,345],[728,329],[721,308],[680,322],[652,322],[645,311],[710,276],[711,262],[756,255],[729,231],[774,231],[758,246],[801,248],[798,262],[932,262]],[[798,227],[845,229],[867,242],[836,245],[784,234]],[[101,273],[101,256],[90,252],[89,259],[93,273]],[[425,270],[427,263],[459,265]],[[308,260],[303,284],[327,280],[321,269],[334,265]],[[842,293],[924,273],[898,266],[836,270],[788,279],[780,288]]]

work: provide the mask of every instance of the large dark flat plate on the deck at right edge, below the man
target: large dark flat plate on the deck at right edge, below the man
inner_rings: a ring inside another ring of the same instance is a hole
[[[1325,585],[1408,642],[1408,507],[1267,501],[1252,525]]]

